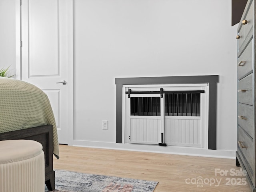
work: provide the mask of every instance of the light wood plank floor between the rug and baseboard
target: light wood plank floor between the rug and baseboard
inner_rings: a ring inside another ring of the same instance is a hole
[[[240,173],[233,159],[60,145],[60,159],[54,157],[54,169],[158,181],[154,192],[250,192],[248,183],[239,185],[245,176],[232,176],[232,169]],[[215,176],[215,169],[228,173]],[[200,177],[203,184],[193,184]],[[219,185],[216,179],[221,180]]]

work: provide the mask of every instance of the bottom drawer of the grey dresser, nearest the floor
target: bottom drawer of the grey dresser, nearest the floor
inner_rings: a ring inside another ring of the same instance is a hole
[[[244,130],[238,126],[238,148],[248,161],[251,168],[254,168],[254,145],[252,138],[250,138]]]

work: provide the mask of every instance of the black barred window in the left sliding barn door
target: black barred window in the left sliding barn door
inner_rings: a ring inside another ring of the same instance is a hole
[[[131,115],[160,116],[160,97],[131,97]]]

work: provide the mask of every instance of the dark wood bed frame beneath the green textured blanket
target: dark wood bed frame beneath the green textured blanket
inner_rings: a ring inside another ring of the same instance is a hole
[[[53,129],[52,125],[10,131],[0,134],[0,140],[26,139],[40,142],[43,146],[45,160],[45,184],[48,190],[55,189],[55,172],[53,170]]]

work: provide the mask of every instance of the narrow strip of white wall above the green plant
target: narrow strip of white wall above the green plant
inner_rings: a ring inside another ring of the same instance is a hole
[[[0,69],[9,68],[9,75],[15,74],[16,66],[16,24],[15,0],[0,0]]]

